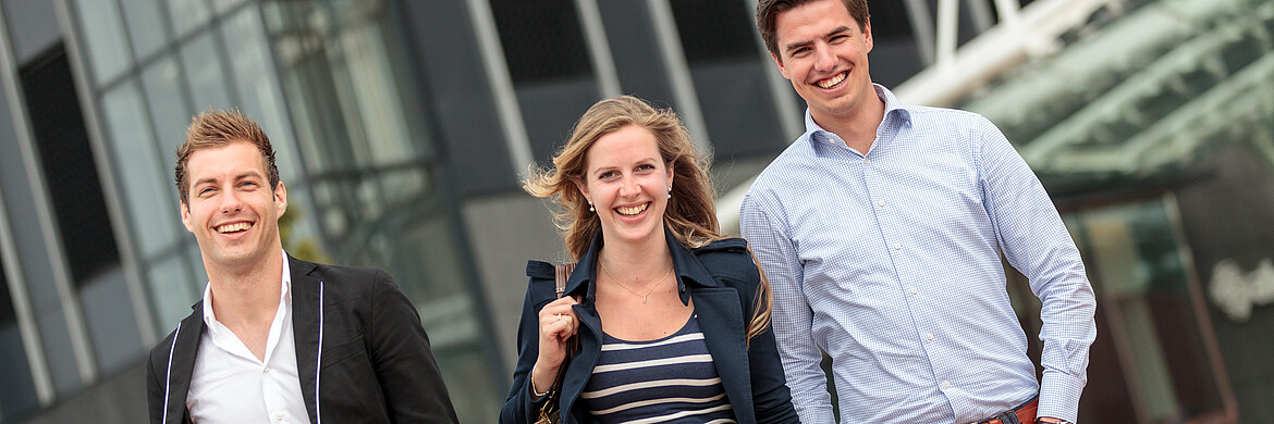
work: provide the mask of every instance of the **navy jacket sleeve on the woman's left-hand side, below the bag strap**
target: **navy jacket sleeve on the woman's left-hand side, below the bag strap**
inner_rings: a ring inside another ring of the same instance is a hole
[[[536,264],[527,264],[527,274],[536,274]],[[543,270],[539,271],[543,272]],[[549,272],[548,278],[553,278],[553,271]],[[526,298],[522,300],[522,318],[517,323],[517,365],[513,368],[513,386],[508,388],[505,406],[499,410],[501,424],[534,423],[539,418],[540,407],[544,406],[544,399],[547,399],[547,396],[539,400],[531,399],[530,388],[531,368],[535,367],[535,360],[540,353],[538,316],[540,307],[543,307],[535,303],[534,288],[535,276],[533,275],[526,284]]]

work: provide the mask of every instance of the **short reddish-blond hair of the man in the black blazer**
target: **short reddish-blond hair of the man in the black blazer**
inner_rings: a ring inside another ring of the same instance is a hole
[[[173,168],[173,180],[177,182],[177,192],[181,204],[190,202],[190,181],[186,176],[186,164],[190,155],[201,149],[220,148],[231,143],[250,143],[261,152],[266,177],[270,180],[270,190],[279,186],[279,168],[274,164],[274,146],[270,138],[256,125],[255,121],[243,116],[238,110],[218,111],[209,110],[200,112],[186,127],[186,141],[177,148],[177,167]]]

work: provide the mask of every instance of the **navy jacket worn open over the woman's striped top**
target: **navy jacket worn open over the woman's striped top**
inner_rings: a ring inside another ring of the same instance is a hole
[[[676,285],[682,303],[694,299],[694,311],[703,330],[703,339],[712,354],[721,385],[740,424],[799,423],[787,391],[782,363],[775,346],[772,330],[757,335],[750,345],[744,340],[761,274],[741,238],[727,238],[699,248],[687,248],[673,233],[664,230],[668,248],[676,269]],[[575,306],[580,316],[580,351],[567,365],[559,407],[562,423],[589,423],[587,411],[577,402],[580,392],[592,374],[601,353],[601,317],[596,309],[595,281],[601,230],[592,237],[589,252],[580,258],[566,295],[580,295]],[[508,391],[501,423],[534,423],[541,402],[531,400],[530,376],[539,357],[539,311],[557,299],[553,284],[554,267],[540,261],[527,261],[530,283],[522,304],[522,321],[517,327],[517,367]]]

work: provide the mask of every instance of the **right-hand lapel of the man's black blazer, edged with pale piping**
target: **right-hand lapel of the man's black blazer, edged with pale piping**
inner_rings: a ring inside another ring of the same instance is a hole
[[[301,379],[301,397],[306,400],[310,421],[317,420],[318,386],[318,302],[322,281],[310,276],[315,270],[311,262],[301,261],[290,255],[292,267],[292,339],[297,345],[297,378]]]

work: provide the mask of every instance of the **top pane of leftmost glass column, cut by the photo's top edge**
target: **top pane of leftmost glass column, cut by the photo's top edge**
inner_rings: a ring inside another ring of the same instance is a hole
[[[98,84],[106,83],[131,65],[120,25],[120,10],[115,8],[115,1],[79,0],[75,4],[84,28],[84,43],[93,60],[93,76]]]

